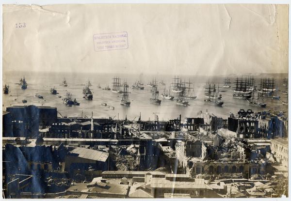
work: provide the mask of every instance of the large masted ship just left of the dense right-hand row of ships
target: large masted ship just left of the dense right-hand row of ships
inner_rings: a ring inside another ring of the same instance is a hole
[[[219,92],[219,90],[217,90]],[[212,105],[212,106],[219,106],[221,107],[224,102],[221,101],[222,96],[217,96],[218,92],[216,91],[215,84],[211,84],[207,82],[205,87],[205,96],[207,97],[204,99],[204,104],[206,105]]]

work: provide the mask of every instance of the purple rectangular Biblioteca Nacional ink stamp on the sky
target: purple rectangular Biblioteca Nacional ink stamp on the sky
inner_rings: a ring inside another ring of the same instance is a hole
[[[127,49],[129,47],[128,34],[126,31],[94,34],[93,40],[95,51]]]

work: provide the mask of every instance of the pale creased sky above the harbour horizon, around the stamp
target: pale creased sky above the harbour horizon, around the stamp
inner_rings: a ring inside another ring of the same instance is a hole
[[[95,50],[122,31],[128,48]],[[288,5],[3,5],[6,71],[288,73]]]

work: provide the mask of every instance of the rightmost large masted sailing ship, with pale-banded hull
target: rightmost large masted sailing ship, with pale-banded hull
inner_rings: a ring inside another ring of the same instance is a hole
[[[260,88],[258,90],[259,96],[268,99],[279,100],[280,96],[276,95],[275,78],[261,78]]]

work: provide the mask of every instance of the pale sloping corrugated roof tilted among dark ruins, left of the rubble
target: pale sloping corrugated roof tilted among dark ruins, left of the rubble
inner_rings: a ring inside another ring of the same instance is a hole
[[[72,154],[79,154],[78,157],[87,158],[90,160],[102,161],[105,162],[109,156],[108,153],[99,152],[93,149],[87,149],[83,147],[77,147],[73,149],[70,153]]]

